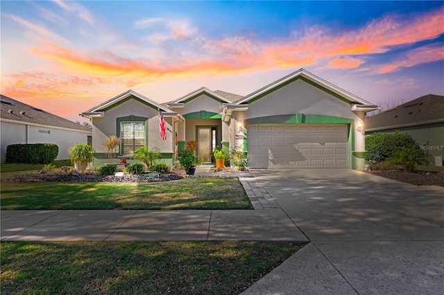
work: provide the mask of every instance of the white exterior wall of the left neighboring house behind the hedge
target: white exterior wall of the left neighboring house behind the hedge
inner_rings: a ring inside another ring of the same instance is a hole
[[[87,143],[90,132],[1,122],[1,162],[5,161],[6,148],[16,143],[55,143],[58,145],[56,160],[69,159],[67,151],[76,143]]]

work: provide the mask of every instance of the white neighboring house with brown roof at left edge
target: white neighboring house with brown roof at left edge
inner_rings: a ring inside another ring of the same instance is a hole
[[[92,130],[37,107],[1,96],[1,162],[6,147],[16,143],[55,143],[57,160],[69,159],[67,150],[76,143],[91,143]]]

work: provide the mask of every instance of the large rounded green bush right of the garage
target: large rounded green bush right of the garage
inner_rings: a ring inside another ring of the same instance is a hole
[[[367,163],[376,163],[393,157],[401,147],[416,145],[416,141],[409,134],[375,132],[366,136]]]

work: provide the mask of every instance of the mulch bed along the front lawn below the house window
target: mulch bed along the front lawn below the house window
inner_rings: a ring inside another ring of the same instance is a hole
[[[65,174],[63,172],[45,172],[32,173],[24,175],[15,175],[2,179],[1,182],[159,182],[182,179],[181,175],[176,173],[161,174],[160,177],[148,177],[143,175],[123,175],[117,177],[114,175],[96,175],[92,173],[83,173],[79,175]]]

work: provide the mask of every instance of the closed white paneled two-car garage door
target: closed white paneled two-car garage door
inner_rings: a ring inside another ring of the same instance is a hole
[[[250,168],[348,168],[348,125],[248,125]]]

